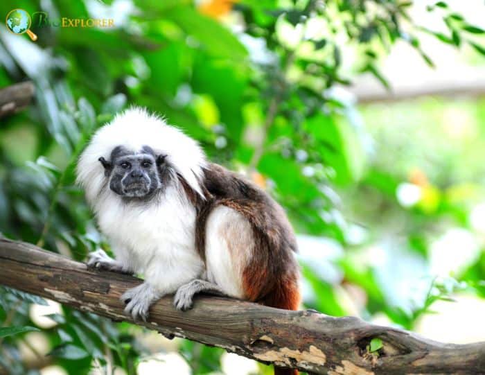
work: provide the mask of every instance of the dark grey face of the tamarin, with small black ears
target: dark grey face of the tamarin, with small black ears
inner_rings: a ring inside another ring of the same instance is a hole
[[[109,189],[126,198],[148,198],[161,188],[164,155],[144,146],[139,152],[130,152],[118,146],[109,161],[99,158],[109,177]]]

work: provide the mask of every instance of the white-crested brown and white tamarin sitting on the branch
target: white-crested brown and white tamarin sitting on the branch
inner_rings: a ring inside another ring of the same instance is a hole
[[[297,244],[283,209],[164,119],[136,107],[118,114],[94,134],[77,175],[116,255],[98,250],[88,264],[143,274],[121,297],[134,319],[170,293],[191,308],[202,291],[297,310]]]

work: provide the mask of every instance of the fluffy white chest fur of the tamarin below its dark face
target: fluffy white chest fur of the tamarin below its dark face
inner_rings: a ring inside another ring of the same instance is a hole
[[[98,210],[116,259],[165,293],[200,277],[204,265],[195,249],[195,208],[185,195],[168,186],[152,204],[119,200],[109,192]]]

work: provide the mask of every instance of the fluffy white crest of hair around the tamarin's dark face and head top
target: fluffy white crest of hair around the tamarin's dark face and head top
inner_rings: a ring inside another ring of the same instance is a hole
[[[111,123],[103,125],[79,159],[77,181],[85,189],[87,200],[95,209],[98,195],[105,184],[104,169],[98,159],[109,159],[116,146],[133,152],[150,146],[157,155],[167,155],[167,162],[184,177],[188,186],[205,198],[200,181],[206,158],[198,143],[182,130],[168,125],[161,117],[141,107],[131,107],[116,115]]]

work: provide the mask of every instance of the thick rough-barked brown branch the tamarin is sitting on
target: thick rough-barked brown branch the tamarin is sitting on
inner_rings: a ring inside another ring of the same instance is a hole
[[[0,238],[0,284],[54,299],[116,321],[121,294],[141,280],[88,269],[30,245]],[[150,309],[149,322],[136,324],[167,336],[222,347],[263,363],[315,374],[484,374],[485,342],[442,344],[418,335],[368,324],[357,317],[313,311],[283,311],[235,299],[200,296],[191,311],[177,311],[171,296]],[[459,324],[459,322],[457,322]],[[366,347],[380,338],[384,347]]]

